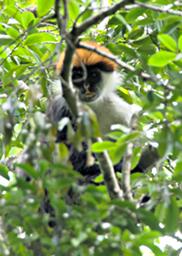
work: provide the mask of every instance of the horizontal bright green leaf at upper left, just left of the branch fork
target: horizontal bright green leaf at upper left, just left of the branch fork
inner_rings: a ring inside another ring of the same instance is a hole
[[[25,44],[27,45],[33,45],[33,44],[39,44],[39,43],[55,43],[55,42],[56,42],[56,37],[46,32],[29,35],[25,40]]]

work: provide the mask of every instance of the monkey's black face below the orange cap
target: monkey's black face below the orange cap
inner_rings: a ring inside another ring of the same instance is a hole
[[[100,69],[95,66],[74,67],[72,82],[79,92],[81,101],[91,102],[99,98],[103,82]]]

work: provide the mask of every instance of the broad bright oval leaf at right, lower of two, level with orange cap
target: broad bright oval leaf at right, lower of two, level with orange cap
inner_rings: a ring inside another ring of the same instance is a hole
[[[148,64],[154,67],[164,67],[173,61],[175,57],[176,54],[173,52],[159,51],[149,58]]]

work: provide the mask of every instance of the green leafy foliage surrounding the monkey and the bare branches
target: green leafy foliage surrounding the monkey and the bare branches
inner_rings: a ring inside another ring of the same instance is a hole
[[[142,2],[182,13],[180,1]],[[88,3],[69,1],[68,28]],[[94,26],[82,35],[106,45],[136,69],[121,70],[124,81],[118,93],[142,107],[137,131],[128,134],[120,127],[109,134],[115,142],[92,145],[94,152],[107,149],[116,163],[127,143],[135,142],[133,168],[146,142],[158,147],[157,166],[131,175],[137,202],[132,203],[110,201],[105,186],[79,185],[82,178],[68,161],[68,148],[55,144],[55,127],[45,115],[47,99],[59,92],[52,81],[63,48],[54,1],[4,0],[0,6],[0,255],[179,255],[180,246],[162,249],[160,237],[177,237],[182,230],[181,17],[127,5],[109,17],[106,29]],[[94,1],[78,22],[99,6]],[[143,71],[153,79],[144,79]],[[82,135],[72,135],[78,145]],[[145,195],[150,200],[141,204]],[[48,200],[52,216],[45,211]]]

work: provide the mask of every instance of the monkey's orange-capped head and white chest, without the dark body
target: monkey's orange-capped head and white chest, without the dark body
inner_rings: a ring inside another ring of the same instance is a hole
[[[83,42],[97,50],[111,52],[95,42]],[[61,73],[64,53],[57,63],[57,71]],[[128,126],[131,117],[138,110],[134,105],[126,103],[115,92],[121,83],[121,75],[117,64],[98,53],[77,48],[72,60],[72,83],[78,91],[80,101],[89,105],[95,112],[101,131],[109,132],[112,124]]]

